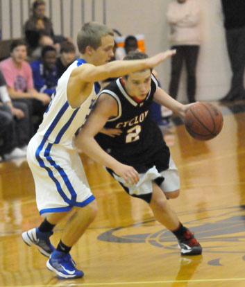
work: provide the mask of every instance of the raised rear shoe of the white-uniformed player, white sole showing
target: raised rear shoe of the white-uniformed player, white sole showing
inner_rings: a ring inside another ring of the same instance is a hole
[[[36,246],[42,255],[49,257],[55,247],[51,244],[49,237],[53,232],[40,232],[38,228],[33,228],[22,233],[22,239],[28,246]]]

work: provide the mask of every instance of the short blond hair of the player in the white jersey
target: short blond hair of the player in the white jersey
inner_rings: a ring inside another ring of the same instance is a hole
[[[112,29],[108,26],[96,22],[84,24],[76,38],[78,51],[82,54],[85,53],[87,46],[92,46],[96,50],[101,46],[101,38],[106,35],[114,35]]]

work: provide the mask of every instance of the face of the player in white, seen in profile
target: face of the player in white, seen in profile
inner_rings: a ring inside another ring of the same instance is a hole
[[[106,64],[113,57],[114,37],[106,35],[101,38],[101,46],[96,50],[92,49],[92,64],[100,66]]]

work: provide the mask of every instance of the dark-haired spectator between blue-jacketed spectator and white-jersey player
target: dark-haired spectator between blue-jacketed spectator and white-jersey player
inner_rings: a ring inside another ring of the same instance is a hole
[[[60,56],[56,61],[56,67],[58,71],[58,78],[62,76],[62,73],[69,67],[74,61],[76,55],[76,48],[71,42],[62,42],[60,44]]]

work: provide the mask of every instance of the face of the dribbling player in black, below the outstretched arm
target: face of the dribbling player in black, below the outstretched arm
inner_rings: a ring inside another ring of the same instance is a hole
[[[124,78],[124,82],[128,94],[143,101],[151,88],[151,70],[130,73],[127,79]]]

